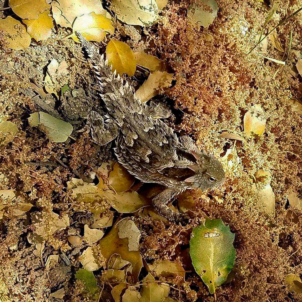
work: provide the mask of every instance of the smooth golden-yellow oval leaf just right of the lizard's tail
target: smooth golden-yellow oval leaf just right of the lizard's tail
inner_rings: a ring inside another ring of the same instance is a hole
[[[136,69],[136,59],[131,48],[124,42],[111,40],[106,47],[106,58],[113,70],[121,76],[127,73],[133,76]]]

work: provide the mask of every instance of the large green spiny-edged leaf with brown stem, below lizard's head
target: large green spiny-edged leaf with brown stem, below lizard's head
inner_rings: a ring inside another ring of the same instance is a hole
[[[221,219],[206,219],[205,225],[193,228],[190,239],[192,263],[211,294],[226,281],[233,268],[236,254],[234,238],[230,226]]]

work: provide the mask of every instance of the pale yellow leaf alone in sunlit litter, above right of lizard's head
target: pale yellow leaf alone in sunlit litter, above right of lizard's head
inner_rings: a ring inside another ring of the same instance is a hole
[[[249,136],[261,136],[265,130],[266,119],[260,105],[256,104],[243,117],[244,132]]]

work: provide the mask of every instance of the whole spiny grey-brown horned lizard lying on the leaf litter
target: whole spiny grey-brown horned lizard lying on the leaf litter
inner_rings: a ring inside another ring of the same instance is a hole
[[[112,71],[104,55],[76,34],[92,60],[107,109],[104,117],[95,111],[88,117],[93,140],[105,145],[115,139],[114,153],[121,165],[142,182],[166,187],[153,199],[159,214],[172,222],[182,222],[186,215],[172,211],[167,203],[186,189],[206,190],[221,185],[221,163],[198,150],[190,137],[178,137],[161,119],[166,112],[160,106],[142,104],[129,83]]]

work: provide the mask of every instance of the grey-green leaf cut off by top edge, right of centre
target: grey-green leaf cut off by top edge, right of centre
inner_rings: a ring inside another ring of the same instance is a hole
[[[188,17],[198,25],[208,27],[217,16],[215,0],[197,0],[188,7]]]

